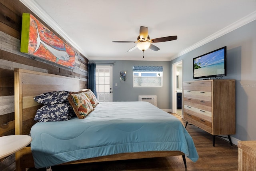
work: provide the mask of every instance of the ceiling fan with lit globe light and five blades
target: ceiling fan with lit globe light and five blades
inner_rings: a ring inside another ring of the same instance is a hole
[[[162,37],[162,38],[155,38],[155,39],[150,39],[148,36],[148,28],[144,26],[140,26],[140,35],[137,38],[137,41],[112,41],[114,43],[137,43],[136,46],[130,48],[127,52],[131,52],[134,49],[138,48],[139,50],[144,51],[150,48],[151,50],[158,51],[160,50],[157,46],[154,46],[151,43],[158,43],[158,42],[167,42],[171,40],[176,40],[178,37],[177,36],[167,36],[167,37]],[[143,56],[144,58],[144,56]]]

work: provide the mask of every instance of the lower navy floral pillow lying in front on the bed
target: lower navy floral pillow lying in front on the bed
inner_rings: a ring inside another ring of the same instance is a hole
[[[72,109],[72,106],[69,104],[69,102],[57,103],[53,105],[44,105],[36,111],[36,116],[34,118],[34,121],[38,121],[38,122],[66,121],[71,118],[71,115],[72,115],[71,109]]]

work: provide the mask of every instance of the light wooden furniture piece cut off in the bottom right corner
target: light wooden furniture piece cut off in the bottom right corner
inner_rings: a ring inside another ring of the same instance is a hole
[[[256,171],[256,141],[238,141],[238,171]]]

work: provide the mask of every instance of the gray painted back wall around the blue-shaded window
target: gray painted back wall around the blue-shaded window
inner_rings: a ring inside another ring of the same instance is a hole
[[[134,88],[132,71],[133,66],[163,66],[163,87]],[[120,82],[120,71],[126,71],[126,82]],[[116,83],[118,84],[117,87],[115,86]],[[138,101],[138,95],[157,95],[157,107],[159,107],[160,109],[170,109],[169,62],[115,61],[115,64],[113,66],[113,101]]]

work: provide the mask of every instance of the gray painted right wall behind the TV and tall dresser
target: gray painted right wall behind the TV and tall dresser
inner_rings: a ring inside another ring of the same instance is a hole
[[[236,80],[236,139],[256,140],[256,20],[170,62],[183,60],[183,81],[192,81],[192,59],[227,46],[227,76]],[[170,74],[172,77],[172,74]],[[170,78],[172,89],[172,78]],[[170,91],[172,97],[172,91]],[[172,99],[170,98],[172,108]]]

